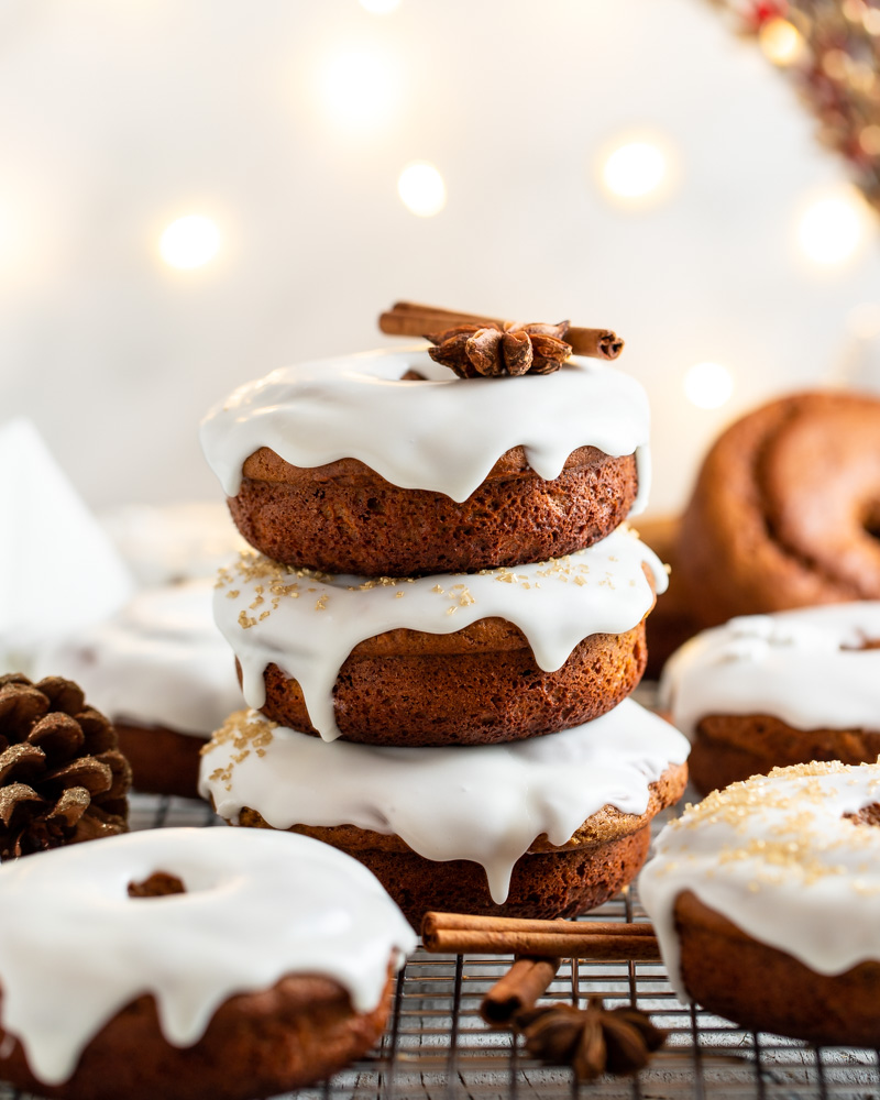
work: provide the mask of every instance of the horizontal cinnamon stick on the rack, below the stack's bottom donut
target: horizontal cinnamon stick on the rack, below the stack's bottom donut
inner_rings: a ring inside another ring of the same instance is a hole
[[[660,948],[650,924],[604,921],[518,921],[513,917],[426,913],[427,952],[448,955],[527,955],[535,958],[653,961]]]

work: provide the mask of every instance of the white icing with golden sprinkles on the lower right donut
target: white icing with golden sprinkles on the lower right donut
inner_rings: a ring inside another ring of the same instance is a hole
[[[660,833],[639,895],[670,979],[674,905],[690,890],[817,974],[880,961],[880,828],[844,818],[880,801],[880,763],[795,765],[715,791]]]

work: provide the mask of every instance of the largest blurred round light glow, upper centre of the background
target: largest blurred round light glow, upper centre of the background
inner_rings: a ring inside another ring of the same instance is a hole
[[[386,123],[399,101],[394,67],[378,53],[343,51],[324,64],[319,85],[328,114],[352,131]]]

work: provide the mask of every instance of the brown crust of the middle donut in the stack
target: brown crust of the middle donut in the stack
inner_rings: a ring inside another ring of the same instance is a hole
[[[491,745],[580,725],[626,698],[645,671],[645,622],[591,635],[556,672],[542,671],[525,635],[501,618],[455,634],[391,630],[355,646],[333,701],[342,739],[367,745]],[[239,667],[241,678],[241,668]],[[264,673],[263,714],[315,734],[296,680]]]

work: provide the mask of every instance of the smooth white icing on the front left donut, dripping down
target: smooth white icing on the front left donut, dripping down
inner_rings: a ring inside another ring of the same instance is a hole
[[[132,899],[154,871],[187,892]],[[46,1085],[67,1080],[120,1009],[156,998],[174,1046],[235,993],[322,974],[374,1009],[416,938],[361,864],[329,845],[256,829],[168,828],[56,848],[0,867],[2,1025]]]

